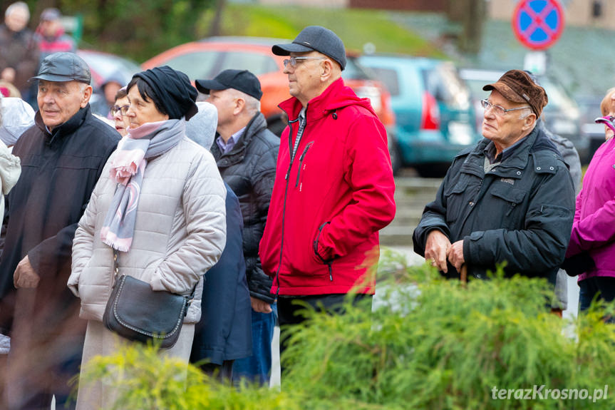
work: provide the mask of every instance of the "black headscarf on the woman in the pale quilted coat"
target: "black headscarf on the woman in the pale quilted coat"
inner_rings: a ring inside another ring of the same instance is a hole
[[[150,97],[155,98],[157,103],[165,108],[169,118],[180,119],[185,116],[188,121],[199,111],[195,104],[199,93],[190,84],[190,79],[185,73],[173,70],[169,66],[162,66],[136,73],[133,79],[135,77],[148,83],[156,94]]]

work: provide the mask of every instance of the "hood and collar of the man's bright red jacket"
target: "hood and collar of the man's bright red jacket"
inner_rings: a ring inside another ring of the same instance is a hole
[[[338,78],[320,96],[314,97],[308,102],[306,118],[310,120],[321,118],[331,111],[353,105],[363,106],[378,117],[376,111],[373,111],[371,107],[369,98],[358,98],[352,88],[344,85],[343,78]],[[294,121],[299,117],[299,112],[303,106],[297,98],[291,97],[282,101],[279,108],[289,116],[290,121]]]

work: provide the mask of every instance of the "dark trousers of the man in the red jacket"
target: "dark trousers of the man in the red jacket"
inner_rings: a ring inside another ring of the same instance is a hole
[[[278,322],[280,325],[280,358],[281,358],[281,374],[284,376],[284,360],[282,355],[288,345],[289,329],[296,324],[305,322],[306,318],[301,314],[301,310],[305,309],[304,304],[308,304],[314,308],[316,312],[321,312],[323,309],[333,314],[343,314],[343,302],[347,294],[316,294],[313,296],[300,297],[278,297]],[[356,294],[353,299],[353,304],[360,302],[363,299],[372,299],[372,294]],[[297,301],[299,304],[297,304]]]

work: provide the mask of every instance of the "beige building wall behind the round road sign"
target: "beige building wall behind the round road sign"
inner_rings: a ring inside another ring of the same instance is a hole
[[[592,16],[594,1],[601,3],[602,14]],[[488,14],[492,19],[512,19],[518,0],[489,0],[487,1]],[[615,1],[612,0],[560,0],[564,9],[565,24],[582,27],[598,27],[601,29],[615,29]]]

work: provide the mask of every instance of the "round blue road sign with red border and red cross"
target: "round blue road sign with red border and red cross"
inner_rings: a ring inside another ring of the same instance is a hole
[[[544,50],[564,31],[564,11],[558,0],[521,0],[512,15],[512,31],[524,46]]]

